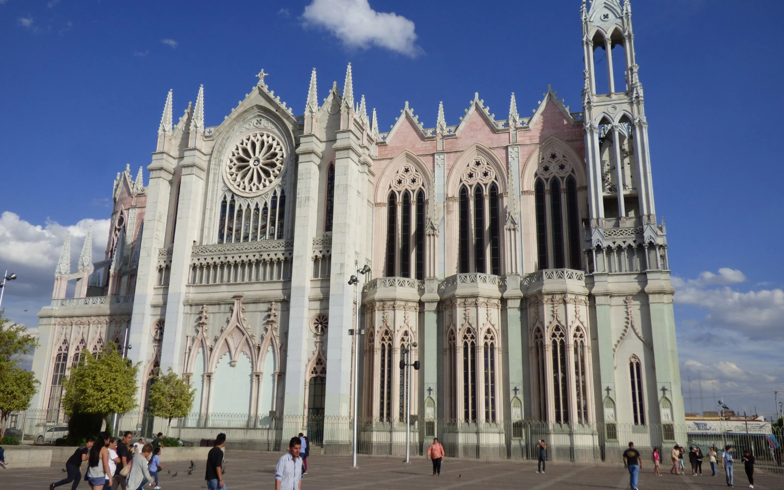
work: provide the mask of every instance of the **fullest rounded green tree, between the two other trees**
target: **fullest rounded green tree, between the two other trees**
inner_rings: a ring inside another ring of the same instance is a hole
[[[68,437],[72,441],[95,435],[101,421],[111,414],[136,407],[140,364],[122,358],[114,343],[109,342],[97,358],[82,356],[79,364],[71,367],[63,378],[62,404],[70,416]]]

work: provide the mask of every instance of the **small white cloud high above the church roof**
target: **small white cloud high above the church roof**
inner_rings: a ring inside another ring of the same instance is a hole
[[[306,25],[323,27],[349,48],[373,45],[406,56],[416,56],[414,23],[394,12],[376,12],[368,0],[313,0],[305,7]]]

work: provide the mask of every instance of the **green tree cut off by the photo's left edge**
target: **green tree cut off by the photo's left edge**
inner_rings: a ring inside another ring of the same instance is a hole
[[[38,390],[34,373],[19,365],[22,356],[38,347],[38,337],[28,333],[24,325],[9,325],[4,312],[0,310],[0,440],[11,413],[30,408]]]

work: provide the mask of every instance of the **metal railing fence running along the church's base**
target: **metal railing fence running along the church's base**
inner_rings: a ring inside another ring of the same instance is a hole
[[[307,434],[313,452],[349,456],[353,445],[353,422],[348,416],[248,416],[238,413],[197,413],[182,419],[152,416],[135,411],[118,416],[118,429],[130,430],[134,437],[153,437],[162,432],[178,437],[184,445],[201,445],[217,434],[227,435],[227,448],[243,451],[285,450],[291,437]],[[26,441],[54,442],[58,429],[67,430],[67,420],[51,420],[46,410],[27,410],[13,414],[8,423],[13,435]],[[56,430],[52,430],[56,429]],[[49,433],[52,430],[52,433]],[[678,443],[688,449],[699,446],[705,456],[704,471],[710,471],[708,453],[715,446],[720,456],[724,445],[732,445],[735,458],[746,450],[753,451],[757,467],[770,473],[784,474],[782,448],[784,432],[773,427],[771,434],[694,433],[686,426],[650,424],[637,426],[623,423],[561,425],[534,421],[466,423],[459,420],[412,418],[411,453],[425,456],[427,447],[438,437],[446,456],[472,459],[531,459],[539,457],[536,443],[546,441],[547,459],[579,464],[622,464],[622,452],[633,442],[646,461],[652,448],[659,448],[662,465],[670,462],[670,452]],[[49,434],[49,435],[47,435]],[[358,452],[364,456],[402,456],[405,454],[406,426],[401,420],[358,419]],[[60,434],[59,437],[65,437]]]

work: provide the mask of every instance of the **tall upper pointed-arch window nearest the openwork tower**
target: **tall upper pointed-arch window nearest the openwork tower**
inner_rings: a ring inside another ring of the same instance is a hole
[[[557,147],[543,151],[534,184],[539,270],[582,269],[577,191],[575,172],[566,154]]]

